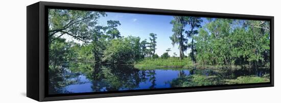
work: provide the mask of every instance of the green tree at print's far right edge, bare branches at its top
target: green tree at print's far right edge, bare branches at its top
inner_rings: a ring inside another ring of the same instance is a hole
[[[257,67],[270,63],[270,23],[269,21],[247,20],[245,27],[249,29],[249,39],[251,50],[248,61],[249,64]]]

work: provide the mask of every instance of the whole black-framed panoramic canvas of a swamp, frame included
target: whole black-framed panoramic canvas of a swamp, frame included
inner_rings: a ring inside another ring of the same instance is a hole
[[[273,16],[38,2],[27,7],[27,96],[272,87],[273,33]]]

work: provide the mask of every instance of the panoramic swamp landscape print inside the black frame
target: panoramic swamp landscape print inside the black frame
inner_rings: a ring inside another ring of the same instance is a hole
[[[270,82],[270,22],[48,10],[48,94]]]

